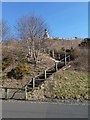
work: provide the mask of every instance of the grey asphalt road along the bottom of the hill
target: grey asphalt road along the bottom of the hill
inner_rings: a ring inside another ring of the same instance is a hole
[[[3,118],[88,118],[87,105],[3,101]]]

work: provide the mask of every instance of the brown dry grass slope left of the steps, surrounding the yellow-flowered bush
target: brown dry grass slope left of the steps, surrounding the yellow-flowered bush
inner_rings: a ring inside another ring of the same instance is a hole
[[[23,54],[23,55],[22,55]],[[9,41],[7,44],[2,45],[2,58],[10,58],[9,65],[3,70],[2,73],[2,85],[7,87],[22,87],[28,80],[32,77],[43,72],[46,68],[53,65],[53,61],[49,56],[45,54],[40,54],[37,66],[34,64],[27,63],[26,59],[27,47],[22,41]],[[12,59],[11,59],[12,58]],[[21,64],[24,60],[24,64],[29,66],[28,74],[22,80],[9,79],[7,73],[11,71],[17,64]]]

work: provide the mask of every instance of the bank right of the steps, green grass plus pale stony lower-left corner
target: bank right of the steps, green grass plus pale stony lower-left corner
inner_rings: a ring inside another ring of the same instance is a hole
[[[88,73],[59,70],[42,87],[28,92],[29,99],[88,99]]]

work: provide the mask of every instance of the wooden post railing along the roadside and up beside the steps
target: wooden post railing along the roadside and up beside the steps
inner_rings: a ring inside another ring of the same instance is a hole
[[[67,58],[68,58],[68,61],[67,61]],[[58,70],[58,64],[59,64],[59,63],[62,63],[62,62],[64,62],[64,66],[67,64],[67,62],[70,62],[70,55],[68,55],[68,56],[65,55],[65,57],[64,57],[63,59],[61,59],[61,60],[58,61],[58,62],[56,61],[53,66],[51,66],[50,68],[47,68],[47,69],[44,70],[41,74],[39,74],[39,75],[35,76],[34,78],[32,78],[32,80],[29,80],[29,81],[27,82],[27,84],[24,85],[22,88],[9,88],[9,87],[7,88],[7,87],[1,87],[2,89],[4,89],[4,98],[5,98],[5,99],[8,99],[8,90],[9,90],[9,89],[16,89],[16,91],[13,93],[13,95],[12,95],[11,98],[13,98],[13,96],[15,95],[15,93],[17,93],[17,92],[20,91],[20,90],[23,90],[24,93],[25,93],[25,100],[27,100],[27,99],[28,99],[27,90],[28,90],[28,85],[30,84],[30,82],[32,81],[32,89],[34,89],[34,88],[35,88],[35,80],[36,80],[38,77],[40,77],[41,75],[44,75],[44,80],[47,79],[47,72],[50,71],[51,69],[55,69],[55,72],[56,72],[56,71]]]

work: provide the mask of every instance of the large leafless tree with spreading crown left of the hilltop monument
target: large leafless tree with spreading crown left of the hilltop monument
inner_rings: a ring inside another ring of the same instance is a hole
[[[28,57],[33,58],[36,65],[40,43],[42,42],[44,30],[46,29],[45,22],[41,17],[23,16],[16,24],[16,29],[21,39],[26,39],[28,44]]]

